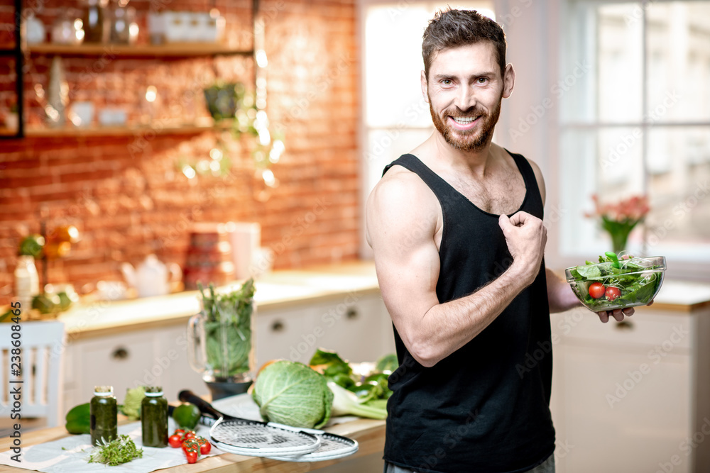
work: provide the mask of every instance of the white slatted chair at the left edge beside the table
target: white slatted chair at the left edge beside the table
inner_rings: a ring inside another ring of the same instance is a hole
[[[63,423],[62,359],[66,347],[64,323],[59,321],[21,322],[20,330],[13,323],[0,323],[0,418],[12,418],[15,399],[13,389],[19,387],[21,420],[46,418],[48,427]],[[20,333],[14,335],[13,333]],[[13,340],[20,341],[20,376],[13,373],[18,359],[13,359]],[[21,380],[21,383],[13,381]]]

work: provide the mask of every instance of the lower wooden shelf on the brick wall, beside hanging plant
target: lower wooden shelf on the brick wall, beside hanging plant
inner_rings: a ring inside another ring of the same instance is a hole
[[[217,123],[209,125],[175,125],[161,126],[160,128],[150,126],[93,126],[87,128],[65,127],[65,128],[37,128],[28,127],[25,130],[26,138],[58,138],[58,137],[92,137],[92,136],[143,136],[147,133],[156,135],[181,135],[197,134],[206,131],[229,130],[230,123]]]

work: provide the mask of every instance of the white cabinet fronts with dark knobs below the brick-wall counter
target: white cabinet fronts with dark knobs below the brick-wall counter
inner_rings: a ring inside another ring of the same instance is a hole
[[[354,362],[394,352],[392,325],[377,291],[257,307],[256,368],[275,358],[307,363],[317,347]],[[119,403],[126,389],[159,384],[174,400],[182,389],[207,394],[187,357],[184,317],[158,327],[129,326],[110,335],[83,334],[65,352],[64,409],[88,402],[95,385],[111,384]]]

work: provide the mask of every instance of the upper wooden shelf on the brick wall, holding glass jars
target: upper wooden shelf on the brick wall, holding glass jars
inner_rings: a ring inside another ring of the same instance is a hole
[[[225,45],[214,43],[170,43],[165,45],[116,45],[116,44],[86,44],[57,45],[39,43],[29,45],[27,51],[37,55],[71,55],[71,56],[132,56],[132,57],[195,57],[214,55],[253,55],[253,50],[236,50]]]

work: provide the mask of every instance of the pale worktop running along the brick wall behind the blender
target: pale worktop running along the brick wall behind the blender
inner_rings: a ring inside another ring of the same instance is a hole
[[[219,287],[218,291],[235,288],[239,282]],[[375,265],[371,261],[344,262],[307,269],[285,269],[256,279],[257,313],[259,308],[293,307],[329,299],[342,299],[344,294],[377,294]],[[185,321],[200,311],[199,291],[184,291],[166,296],[125,301],[84,299],[61,313],[71,340],[115,334],[121,330],[142,330]]]

